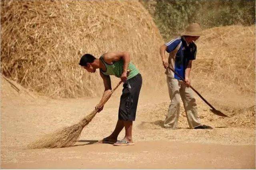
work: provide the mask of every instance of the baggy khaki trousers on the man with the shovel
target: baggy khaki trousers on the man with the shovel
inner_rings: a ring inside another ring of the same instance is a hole
[[[171,103],[164,121],[164,127],[176,128],[180,115],[180,97],[186,111],[190,129],[202,125],[197,115],[196,99],[193,97],[192,89],[186,87],[186,84],[182,82],[182,80],[177,80],[176,78],[170,78],[168,76],[167,85]]]

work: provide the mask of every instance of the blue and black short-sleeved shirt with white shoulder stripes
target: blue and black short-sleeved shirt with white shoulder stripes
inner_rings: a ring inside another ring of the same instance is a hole
[[[178,52],[175,56],[174,61],[174,70],[183,78],[185,78],[185,69],[188,66],[188,62],[190,60],[196,59],[196,44],[194,42],[191,42],[187,44],[186,39],[182,37],[177,37],[175,39],[172,39],[168,43],[165,43],[167,46],[167,53],[170,53],[176,47],[180,44],[180,49],[178,49]],[[174,74],[174,78],[181,80],[176,74]]]

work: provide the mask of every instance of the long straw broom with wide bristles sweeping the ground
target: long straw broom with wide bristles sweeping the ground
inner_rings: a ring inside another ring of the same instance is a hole
[[[47,134],[41,139],[38,139],[37,141],[30,143],[28,145],[28,148],[30,149],[42,149],[42,148],[62,148],[62,147],[70,147],[76,143],[77,139],[80,137],[80,134],[84,127],[90,123],[90,121],[94,118],[96,113],[99,112],[98,108],[101,108],[100,106],[104,106],[104,104],[108,101],[111,94],[118,88],[118,86],[122,83],[120,81],[117,86],[112,89],[102,100],[100,103],[96,106],[94,111],[92,111],[90,114],[88,114],[84,119],[82,119],[80,122],[69,126],[64,127],[63,129],[59,129],[53,133]]]

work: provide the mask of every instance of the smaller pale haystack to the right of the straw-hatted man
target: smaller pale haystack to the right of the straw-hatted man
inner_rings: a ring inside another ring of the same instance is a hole
[[[195,87],[228,96],[255,93],[255,25],[206,29],[197,44]]]

